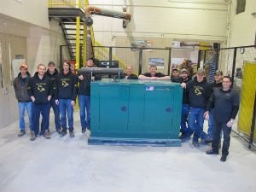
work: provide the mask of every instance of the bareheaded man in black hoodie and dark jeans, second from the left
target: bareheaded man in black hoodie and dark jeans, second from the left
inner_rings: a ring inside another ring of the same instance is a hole
[[[27,85],[28,95],[32,105],[32,131],[31,141],[34,141],[39,132],[40,113],[42,114],[41,131],[45,138],[49,137],[49,100],[53,95],[52,82],[45,74],[44,64],[38,65],[38,72],[29,80]]]

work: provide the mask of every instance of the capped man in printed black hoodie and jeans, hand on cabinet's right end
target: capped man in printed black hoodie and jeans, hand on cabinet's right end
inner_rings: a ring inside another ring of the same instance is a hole
[[[189,94],[189,128],[194,131],[192,143],[195,147],[199,147],[200,138],[201,143],[209,143],[211,141],[207,133],[203,131],[203,124],[207,102],[212,94],[212,86],[207,83],[204,70],[199,68],[195,78],[187,84],[182,83],[182,87]]]

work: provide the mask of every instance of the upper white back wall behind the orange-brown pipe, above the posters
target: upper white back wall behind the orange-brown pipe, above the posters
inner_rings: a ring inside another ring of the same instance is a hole
[[[126,2],[132,17],[125,29],[120,19],[93,15],[96,39],[102,44],[113,45],[111,39],[115,36],[226,41],[228,4],[224,0]],[[120,12],[123,3],[122,0],[90,1],[90,5]]]

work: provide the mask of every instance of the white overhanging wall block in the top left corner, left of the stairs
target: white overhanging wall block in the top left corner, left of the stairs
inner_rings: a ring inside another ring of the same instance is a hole
[[[49,28],[48,1],[45,0],[0,0],[0,13]]]

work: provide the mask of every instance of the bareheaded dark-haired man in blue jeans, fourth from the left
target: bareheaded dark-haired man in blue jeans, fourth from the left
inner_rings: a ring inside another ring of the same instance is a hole
[[[67,120],[69,136],[74,137],[73,132],[73,106],[77,97],[77,77],[71,71],[69,62],[63,62],[63,70],[56,78],[55,103],[59,105],[61,113],[62,131],[60,137],[67,134]]]

